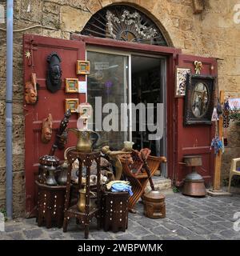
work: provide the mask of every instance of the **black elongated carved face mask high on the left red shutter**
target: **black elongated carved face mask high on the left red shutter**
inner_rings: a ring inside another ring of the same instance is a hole
[[[55,93],[62,85],[62,69],[60,62],[62,59],[56,52],[52,52],[47,56],[48,70],[46,71],[46,88],[51,93]]]

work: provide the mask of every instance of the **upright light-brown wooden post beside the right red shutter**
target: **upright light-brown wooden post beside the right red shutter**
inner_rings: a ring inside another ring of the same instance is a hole
[[[224,102],[224,90],[220,90],[220,102],[221,102],[221,105]],[[222,114],[221,114],[220,117],[219,117],[219,120],[218,120],[218,136],[219,136],[219,139],[222,139],[222,123],[223,123],[223,117],[222,117]],[[218,154],[215,156],[213,191],[220,190],[221,163],[222,163],[222,150],[220,150],[218,152]]]

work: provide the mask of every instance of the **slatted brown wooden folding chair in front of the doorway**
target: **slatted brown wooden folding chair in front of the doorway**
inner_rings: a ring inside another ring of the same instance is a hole
[[[146,154],[150,153],[149,150],[144,149],[143,152],[144,151]],[[138,199],[144,194],[144,190],[149,178],[154,175],[156,170],[158,170],[158,166],[161,162],[166,162],[166,158],[147,155],[146,162],[150,170],[150,175],[148,175],[144,162],[141,158],[141,151],[137,155],[136,150],[133,150],[132,154],[133,163],[126,158],[120,158],[120,160],[122,162],[122,173],[130,181],[133,191],[133,195],[129,198],[128,210],[132,213],[136,213],[134,206],[138,202]]]

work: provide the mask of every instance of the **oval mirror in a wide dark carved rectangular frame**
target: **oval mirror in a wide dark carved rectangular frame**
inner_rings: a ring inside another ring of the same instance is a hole
[[[184,125],[211,125],[214,82],[210,75],[187,74]]]

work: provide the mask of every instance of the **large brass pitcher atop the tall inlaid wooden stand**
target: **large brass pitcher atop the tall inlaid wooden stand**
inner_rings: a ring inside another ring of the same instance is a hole
[[[90,153],[100,137],[93,130],[78,130],[76,128],[70,128],[69,130],[78,137],[76,150],[83,153]]]

